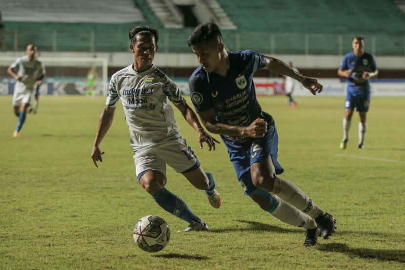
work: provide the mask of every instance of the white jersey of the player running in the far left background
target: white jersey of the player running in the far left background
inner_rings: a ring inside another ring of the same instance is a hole
[[[11,68],[17,68],[17,75],[21,77],[14,87],[14,91],[21,93],[33,91],[34,84],[41,75],[45,75],[45,67],[40,61],[34,59],[29,61],[28,56],[18,58],[11,64]]]

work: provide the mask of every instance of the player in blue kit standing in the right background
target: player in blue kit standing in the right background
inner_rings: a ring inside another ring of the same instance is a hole
[[[345,149],[349,140],[349,129],[354,108],[359,112],[359,149],[364,148],[366,131],[366,114],[370,106],[369,80],[378,75],[377,65],[371,54],[364,52],[364,38],[355,37],[352,42],[353,52],[344,56],[338,69],[338,75],[348,78],[347,95],[344,103],[343,140],[340,148]]]

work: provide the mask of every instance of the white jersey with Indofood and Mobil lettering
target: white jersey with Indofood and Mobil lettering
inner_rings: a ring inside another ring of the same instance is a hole
[[[111,77],[106,105],[116,107],[121,99],[134,151],[181,136],[167,98],[174,105],[185,102],[177,85],[154,65],[143,72],[129,65]]]

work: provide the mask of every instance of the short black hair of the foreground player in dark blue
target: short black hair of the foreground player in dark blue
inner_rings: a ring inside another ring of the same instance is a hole
[[[190,35],[187,43],[188,46],[193,46],[200,42],[211,42],[218,41],[223,43],[221,30],[218,24],[213,22],[208,22],[200,24],[194,29],[194,32]]]

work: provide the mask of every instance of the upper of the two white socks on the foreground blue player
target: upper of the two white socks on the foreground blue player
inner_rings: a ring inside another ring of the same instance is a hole
[[[273,191],[271,192],[282,198],[287,203],[303,211],[312,218],[317,218],[324,214],[324,210],[319,208],[303,191],[288,180],[276,177]]]

